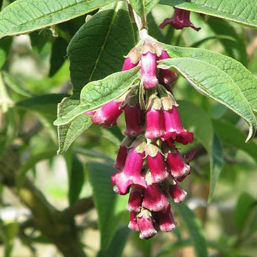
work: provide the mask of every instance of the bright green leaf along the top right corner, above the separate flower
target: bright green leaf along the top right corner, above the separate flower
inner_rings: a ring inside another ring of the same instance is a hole
[[[160,0],[160,4],[220,17],[232,22],[257,28],[255,0]]]

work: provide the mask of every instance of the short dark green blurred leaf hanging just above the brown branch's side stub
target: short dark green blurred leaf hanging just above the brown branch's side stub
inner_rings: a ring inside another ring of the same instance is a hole
[[[81,161],[75,154],[70,154],[69,152],[65,154],[65,160],[67,164],[68,171],[68,181],[69,181],[69,192],[68,199],[69,205],[74,205],[79,199],[83,184],[84,184],[84,167]]]

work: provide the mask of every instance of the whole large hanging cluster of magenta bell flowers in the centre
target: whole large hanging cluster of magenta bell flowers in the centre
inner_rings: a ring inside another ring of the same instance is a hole
[[[117,172],[112,182],[116,193],[130,193],[126,206],[130,211],[128,227],[140,231],[142,239],[153,237],[158,230],[175,229],[169,200],[180,203],[185,199],[187,193],[179,182],[189,174],[189,160],[193,157],[183,157],[176,148],[177,142],[192,143],[193,133],[183,128],[172,95],[170,85],[177,75],[157,69],[157,61],[167,58],[168,52],[159,43],[140,43],[125,57],[122,68],[124,71],[140,65],[140,85],[133,85],[125,96],[90,112],[94,123],[107,128],[116,125],[124,111],[126,137],[114,163]],[[144,89],[143,100],[140,86]]]

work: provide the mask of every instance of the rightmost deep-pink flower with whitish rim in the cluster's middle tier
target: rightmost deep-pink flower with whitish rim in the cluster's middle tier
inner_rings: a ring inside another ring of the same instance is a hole
[[[168,153],[167,161],[171,168],[171,175],[177,179],[186,176],[190,171],[190,166],[185,162],[177,149],[174,149],[174,151],[174,153]]]

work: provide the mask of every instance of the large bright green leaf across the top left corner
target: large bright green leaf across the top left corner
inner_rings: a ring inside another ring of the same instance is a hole
[[[0,38],[68,21],[113,2],[115,0],[17,0],[0,13]]]

